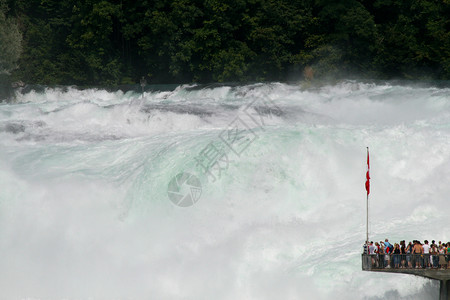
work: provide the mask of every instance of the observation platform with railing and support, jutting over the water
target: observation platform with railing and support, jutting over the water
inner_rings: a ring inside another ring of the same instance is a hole
[[[386,256],[388,259],[386,259]],[[442,261],[442,259],[445,260],[446,258],[446,255],[433,256],[438,257],[434,262],[439,262],[439,259]],[[434,268],[428,267],[428,262],[430,264],[433,263],[433,257],[429,254],[362,254],[361,258],[363,271],[408,274],[439,280],[439,300],[450,300],[450,268],[441,268],[439,264]],[[400,267],[395,268],[395,260],[398,260]],[[413,265],[419,265],[419,268],[412,267]]]

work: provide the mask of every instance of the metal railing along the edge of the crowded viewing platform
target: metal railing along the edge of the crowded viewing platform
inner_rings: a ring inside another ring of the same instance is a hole
[[[364,271],[379,269],[447,269],[450,254],[365,254],[361,255]]]

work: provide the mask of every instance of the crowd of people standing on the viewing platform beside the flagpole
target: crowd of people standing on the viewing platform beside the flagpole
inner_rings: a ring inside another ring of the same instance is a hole
[[[392,245],[388,239],[380,242],[366,242],[364,254],[370,257],[372,268],[433,268],[450,269],[450,242],[431,244],[427,240],[423,242],[405,241]]]

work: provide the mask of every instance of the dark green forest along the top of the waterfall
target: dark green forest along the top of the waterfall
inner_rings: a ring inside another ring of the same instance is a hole
[[[450,0],[0,0],[0,74],[45,85],[450,79]]]

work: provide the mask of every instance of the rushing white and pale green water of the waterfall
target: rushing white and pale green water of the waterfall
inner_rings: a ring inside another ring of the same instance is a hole
[[[0,297],[437,299],[361,271],[366,146],[370,239],[449,241],[449,89],[18,93],[0,105]],[[201,182],[188,207],[168,194],[182,172]]]

